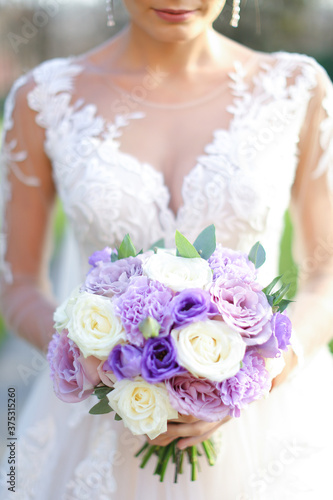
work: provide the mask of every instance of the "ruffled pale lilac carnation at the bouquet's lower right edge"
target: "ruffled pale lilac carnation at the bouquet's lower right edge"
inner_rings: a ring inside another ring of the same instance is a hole
[[[264,359],[249,351],[243,359],[243,366],[233,377],[219,382],[220,396],[233,417],[240,416],[240,410],[252,401],[260,399],[270,389],[270,376]]]

